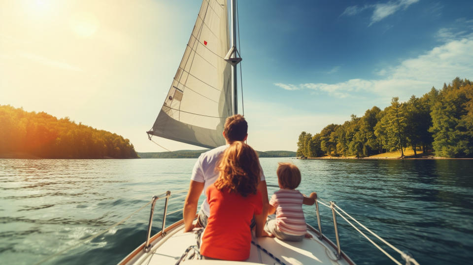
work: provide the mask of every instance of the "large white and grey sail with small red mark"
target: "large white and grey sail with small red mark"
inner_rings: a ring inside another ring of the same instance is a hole
[[[203,0],[163,107],[148,134],[206,148],[225,144],[232,115],[226,0]]]

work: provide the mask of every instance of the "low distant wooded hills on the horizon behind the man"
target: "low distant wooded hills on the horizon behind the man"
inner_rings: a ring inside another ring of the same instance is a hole
[[[179,150],[174,152],[152,152],[152,153],[137,153],[141,158],[198,158],[204,150]],[[266,151],[258,152],[259,157],[296,157],[296,152],[292,151]]]

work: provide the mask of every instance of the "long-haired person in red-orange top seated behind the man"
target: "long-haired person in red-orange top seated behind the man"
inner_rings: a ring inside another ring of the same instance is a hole
[[[217,170],[218,179],[205,191],[210,215],[201,254],[211,259],[244,261],[250,255],[251,219],[263,208],[257,190],[258,155],[249,145],[236,141],[223,153]]]

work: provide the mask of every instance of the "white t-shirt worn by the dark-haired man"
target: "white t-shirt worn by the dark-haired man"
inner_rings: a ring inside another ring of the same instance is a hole
[[[210,151],[202,153],[197,159],[194,169],[192,169],[191,180],[197,182],[203,182],[203,193],[208,186],[212,185],[218,178],[219,172],[216,170],[217,163],[220,159],[220,155],[229,147],[230,145],[222,145],[217,148],[214,148]],[[258,161],[259,163],[259,161]],[[265,180],[265,174],[263,173],[263,168],[261,168],[261,181]],[[202,203],[201,209],[205,215],[210,215],[210,208],[207,202],[207,199]]]

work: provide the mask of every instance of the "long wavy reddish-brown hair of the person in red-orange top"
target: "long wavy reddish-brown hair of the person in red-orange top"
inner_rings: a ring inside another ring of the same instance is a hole
[[[220,172],[214,185],[243,197],[256,194],[261,176],[258,155],[249,145],[235,141],[223,153],[217,166]]]

